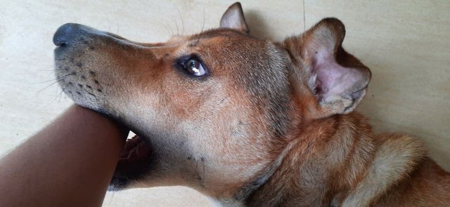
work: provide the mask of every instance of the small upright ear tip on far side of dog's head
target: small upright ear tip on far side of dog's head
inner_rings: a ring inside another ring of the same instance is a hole
[[[250,32],[247,22],[245,22],[244,12],[239,2],[231,5],[220,19],[220,28],[236,29],[240,32]]]

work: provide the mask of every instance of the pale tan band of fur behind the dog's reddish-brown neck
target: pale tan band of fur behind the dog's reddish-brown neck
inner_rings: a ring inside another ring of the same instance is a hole
[[[409,135],[384,134],[375,138],[378,150],[366,176],[342,201],[342,206],[368,206],[408,177],[425,159],[422,143]]]

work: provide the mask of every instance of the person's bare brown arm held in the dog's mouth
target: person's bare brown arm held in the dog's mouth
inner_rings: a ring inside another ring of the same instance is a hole
[[[0,159],[0,206],[101,206],[127,133],[70,107]]]

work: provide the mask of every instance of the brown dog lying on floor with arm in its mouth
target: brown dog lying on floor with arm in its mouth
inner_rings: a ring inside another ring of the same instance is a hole
[[[373,135],[361,114],[370,70],[321,20],[255,39],[240,4],[220,28],[139,44],[66,24],[53,41],[60,86],[122,121],[111,189],[184,185],[221,206],[450,206],[450,175],[406,135]]]

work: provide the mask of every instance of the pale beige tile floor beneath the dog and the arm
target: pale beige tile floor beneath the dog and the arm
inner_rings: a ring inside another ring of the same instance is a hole
[[[65,22],[135,41],[216,27],[233,1],[0,0],[0,155],[72,104],[53,79],[53,32]],[[450,170],[450,1],[243,1],[252,34],[281,40],[321,18],[347,26],[345,47],[373,72],[359,111],[374,129],[417,135]],[[181,18],[183,20],[181,20]],[[47,87],[48,86],[48,87]],[[108,193],[104,206],[211,206],[185,187]]]

